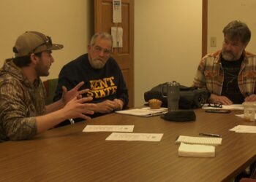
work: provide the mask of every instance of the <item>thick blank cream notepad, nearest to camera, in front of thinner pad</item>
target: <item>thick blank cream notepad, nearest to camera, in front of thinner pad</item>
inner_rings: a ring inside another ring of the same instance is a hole
[[[181,143],[178,156],[184,157],[215,157],[215,146],[191,145]]]

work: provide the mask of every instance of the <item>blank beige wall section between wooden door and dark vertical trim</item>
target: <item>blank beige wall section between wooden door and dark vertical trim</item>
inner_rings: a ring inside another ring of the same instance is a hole
[[[201,35],[201,0],[135,1],[135,106],[156,84],[192,84]]]

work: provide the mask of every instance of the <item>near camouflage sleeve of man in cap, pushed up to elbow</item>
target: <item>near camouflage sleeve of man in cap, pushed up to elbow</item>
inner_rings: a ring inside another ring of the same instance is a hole
[[[0,137],[2,140],[19,141],[37,134],[35,116],[27,117],[29,109],[23,102],[21,87],[15,82],[4,81],[0,87]]]

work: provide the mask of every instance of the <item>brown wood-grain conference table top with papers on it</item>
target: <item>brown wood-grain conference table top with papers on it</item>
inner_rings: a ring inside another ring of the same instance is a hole
[[[255,125],[230,114],[195,110],[195,122],[108,114],[49,130],[29,141],[0,143],[0,181],[230,181],[256,159],[256,134],[228,131]],[[86,124],[134,124],[134,132],[164,133],[162,141],[105,141],[110,132]],[[216,157],[178,157],[178,135],[222,135]]]

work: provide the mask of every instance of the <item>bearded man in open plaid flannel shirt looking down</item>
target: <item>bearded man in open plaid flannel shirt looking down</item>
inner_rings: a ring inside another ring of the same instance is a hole
[[[256,101],[256,55],[245,51],[251,31],[245,23],[234,20],[222,32],[222,50],[200,61],[193,84],[211,92],[211,103]]]

